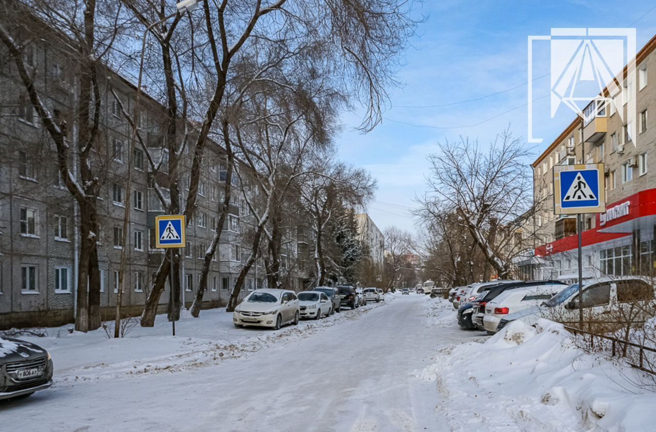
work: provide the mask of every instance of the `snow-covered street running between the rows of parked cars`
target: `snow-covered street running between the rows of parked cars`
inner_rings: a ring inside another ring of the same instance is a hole
[[[449,429],[435,410],[435,383],[414,373],[434,362],[441,345],[462,342],[463,334],[456,326],[429,328],[427,301],[396,296],[242,359],[58,383],[25,401],[0,405],[0,418],[35,431]]]

